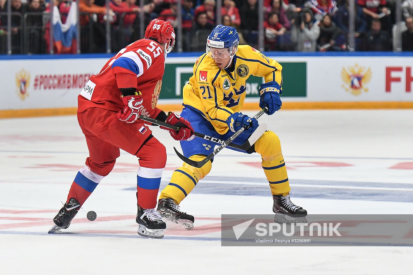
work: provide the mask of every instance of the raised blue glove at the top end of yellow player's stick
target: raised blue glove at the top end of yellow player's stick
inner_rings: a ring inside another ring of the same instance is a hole
[[[266,113],[268,115],[274,114],[275,111],[281,109],[281,93],[282,90],[280,84],[278,84],[276,81],[261,84],[259,88],[259,107],[267,107],[268,111],[266,111]]]

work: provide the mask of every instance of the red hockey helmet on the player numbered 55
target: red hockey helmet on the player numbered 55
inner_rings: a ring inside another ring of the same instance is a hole
[[[171,22],[153,19],[145,31],[145,38],[152,39],[161,44],[166,44],[165,52],[168,54],[175,45],[175,31]]]

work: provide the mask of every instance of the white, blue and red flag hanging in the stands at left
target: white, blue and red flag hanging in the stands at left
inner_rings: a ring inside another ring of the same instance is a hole
[[[57,6],[53,7],[53,38],[55,40],[55,53],[76,53],[77,38],[77,6],[76,2],[70,5],[66,22],[62,18]]]

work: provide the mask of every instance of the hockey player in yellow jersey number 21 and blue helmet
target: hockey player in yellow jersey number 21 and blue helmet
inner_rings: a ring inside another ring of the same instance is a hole
[[[249,45],[238,46],[238,43],[235,28],[223,25],[214,28],[207,39],[206,53],[195,62],[193,75],[183,88],[181,116],[190,121],[196,132],[221,140],[227,140],[247,125],[249,128],[234,140],[234,143],[243,144],[259,126],[256,119],[241,113],[247,78],[251,75],[264,77],[265,83],[259,88],[259,107],[267,107],[266,113],[272,115],[282,105],[282,66]],[[194,161],[204,159],[216,145],[199,137],[180,144],[184,156]],[[261,154],[263,171],[273,195],[273,211],[282,216],[305,217],[307,211],[290,200],[290,185],[278,136],[266,131],[243,152]],[[194,217],[180,211],[178,205],[211,167],[212,160],[200,168],[186,163],[178,168],[159,196],[157,210],[161,216],[192,229]]]

